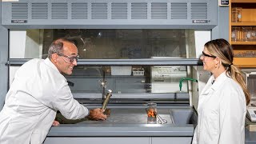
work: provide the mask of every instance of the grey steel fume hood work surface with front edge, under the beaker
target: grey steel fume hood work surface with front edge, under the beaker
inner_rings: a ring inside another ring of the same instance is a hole
[[[48,137],[91,137],[91,136],[169,136],[192,137],[197,116],[190,107],[159,108],[158,114],[166,124],[147,124],[146,108],[110,108],[106,121],[84,119],[75,124],[52,127]]]

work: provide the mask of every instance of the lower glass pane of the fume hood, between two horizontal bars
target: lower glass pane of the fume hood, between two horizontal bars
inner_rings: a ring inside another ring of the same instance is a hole
[[[186,66],[76,66],[66,75],[73,93],[102,93],[104,82],[113,94],[188,92],[186,77]]]

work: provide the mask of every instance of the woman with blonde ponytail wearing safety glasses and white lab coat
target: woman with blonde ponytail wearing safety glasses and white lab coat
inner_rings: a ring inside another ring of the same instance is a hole
[[[201,60],[210,71],[198,100],[198,126],[193,144],[244,144],[246,105],[250,94],[241,70],[233,65],[233,49],[225,39],[206,42]]]

